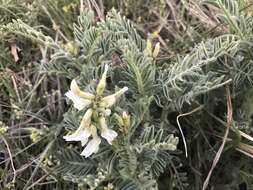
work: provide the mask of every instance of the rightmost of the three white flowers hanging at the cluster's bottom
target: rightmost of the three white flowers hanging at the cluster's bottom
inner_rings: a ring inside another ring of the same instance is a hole
[[[106,139],[109,144],[112,144],[112,141],[118,136],[118,133],[107,127],[104,117],[99,118],[99,124],[101,127],[101,136]]]

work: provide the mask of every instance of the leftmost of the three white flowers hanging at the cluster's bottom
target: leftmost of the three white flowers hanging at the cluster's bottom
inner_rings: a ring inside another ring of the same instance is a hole
[[[92,134],[92,131],[89,127],[90,126],[91,116],[92,116],[92,109],[88,109],[86,111],[86,113],[84,114],[78,129],[73,134],[66,135],[63,138],[66,141],[81,141],[82,146],[84,146],[87,143],[88,138]]]

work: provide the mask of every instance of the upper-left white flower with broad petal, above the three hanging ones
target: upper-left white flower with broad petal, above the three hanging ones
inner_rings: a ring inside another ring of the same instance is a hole
[[[89,106],[95,97],[93,94],[81,91],[75,80],[72,80],[70,90],[65,95],[73,101],[74,107],[78,110]]]

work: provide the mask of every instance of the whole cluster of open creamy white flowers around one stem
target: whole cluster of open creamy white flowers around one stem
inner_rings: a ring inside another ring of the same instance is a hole
[[[80,141],[82,146],[88,143],[81,153],[86,158],[98,151],[101,143],[100,136],[106,139],[109,144],[112,144],[112,141],[118,135],[116,131],[108,128],[106,117],[111,114],[110,108],[115,104],[117,98],[125,93],[128,88],[124,87],[112,95],[102,97],[106,87],[107,71],[108,65],[105,66],[95,94],[81,91],[75,80],[72,80],[70,90],[65,94],[73,101],[76,109],[83,110],[87,108],[78,129],[73,134],[63,137],[66,141]],[[92,137],[91,140],[89,140],[90,137]]]

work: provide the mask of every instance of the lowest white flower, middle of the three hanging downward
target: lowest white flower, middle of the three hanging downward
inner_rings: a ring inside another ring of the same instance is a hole
[[[94,125],[91,125],[90,128],[93,139],[87,144],[81,153],[81,156],[85,156],[85,158],[96,153],[99,149],[99,144],[101,143],[101,139],[97,135],[97,128]]]

